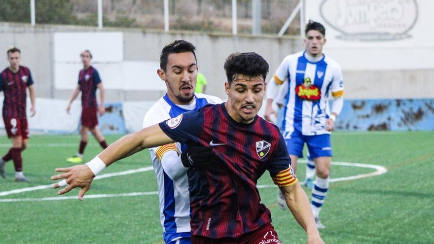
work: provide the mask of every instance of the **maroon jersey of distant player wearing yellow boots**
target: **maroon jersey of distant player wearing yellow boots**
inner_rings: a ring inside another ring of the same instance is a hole
[[[87,70],[80,70],[78,74],[78,85],[81,91],[82,107],[97,107],[96,91],[101,78],[97,70],[92,66]]]

